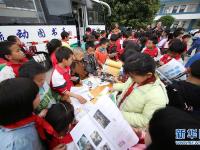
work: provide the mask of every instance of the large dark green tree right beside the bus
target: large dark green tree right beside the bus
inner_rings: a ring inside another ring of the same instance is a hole
[[[133,28],[146,27],[151,24],[159,9],[159,0],[104,0],[112,11],[107,18],[107,25],[118,22]]]

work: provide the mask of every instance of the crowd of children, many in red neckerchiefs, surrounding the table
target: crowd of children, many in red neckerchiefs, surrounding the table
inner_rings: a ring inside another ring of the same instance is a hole
[[[131,149],[199,149],[175,143],[176,129],[200,127],[199,33],[190,48],[192,36],[182,28],[172,33],[158,23],[121,31],[114,23],[109,34],[87,28],[82,46],[72,49],[69,33],[63,31],[61,40],[46,45],[48,69],[28,55],[16,36],[9,36],[0,42],[0,149],[75,149],[70,97],[81,104],[86,99],[70,89],[89,75],[98,76],[107,59],[123,63],[120,81],[110,91],[120,92],[117,107],[143,145]],[[193,49],[196,54],[185,66],[187,80],[164,84],[157,67],[172,59],[184,66]]]

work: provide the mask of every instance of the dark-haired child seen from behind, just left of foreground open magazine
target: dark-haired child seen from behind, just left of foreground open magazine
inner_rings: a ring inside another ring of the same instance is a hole
[[[48,140],[49,149],[53,149],[59,144],[68,144],[67,149],[73,149],[70,146],[75,145],[72,143],[73,140],[69,133],[75,119],[73,106],[67,102],[53,104],[45,119],[58,134],[58,137],[50,136]]]

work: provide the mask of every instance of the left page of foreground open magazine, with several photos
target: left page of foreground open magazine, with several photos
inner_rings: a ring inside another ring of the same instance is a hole
[[[79,150],[116,150],[89,115],[83,117],[70,134]]]

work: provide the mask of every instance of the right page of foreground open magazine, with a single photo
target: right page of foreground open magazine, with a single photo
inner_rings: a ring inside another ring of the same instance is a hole
[[[138,143],[137,135],[109,96],[100,97],[95,107],[89,112],[90,118],[116,150],[125,150]]]

